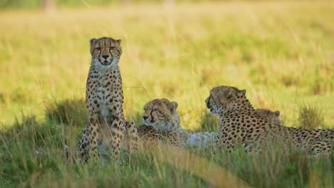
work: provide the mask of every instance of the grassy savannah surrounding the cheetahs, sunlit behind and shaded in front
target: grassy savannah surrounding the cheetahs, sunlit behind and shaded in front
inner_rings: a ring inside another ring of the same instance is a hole
[[[88,122],[89,39],[121,38],[128,120],[154,98],[186,130],[217,131],[204,100],[246,89],[288,127],[334,128],[334,1],[129,4],[0,12],[0,187],[334,187],[334,152],[273,147],[124,152],[91,169],[67,162]],[[75,152],[75,151],[74,151]],[[213,154],[216,153],[216,154]]]

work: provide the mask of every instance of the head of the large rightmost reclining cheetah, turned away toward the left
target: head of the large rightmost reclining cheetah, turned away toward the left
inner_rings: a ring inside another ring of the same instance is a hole
[[[211,114],[221,115],[228,110],[241,108],[243,100],[247,100],[245,95],[246,90],[221,85],[211,90],[206,98],[206,107],[210,109]]]

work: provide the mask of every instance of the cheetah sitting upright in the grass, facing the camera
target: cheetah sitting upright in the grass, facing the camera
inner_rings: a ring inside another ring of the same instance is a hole
[[[90,43],[92,58],[86,83],[89,124],[83,129],[79,142],[79,157],[84,162],[88,161],[88,156],[95,160],[98,143],[106,140],[111,157],[117,160],[125,131],[131,134],[132,147],[137,147],[138,140],[133,122],[126,122],[123,115],[122,78],[118,67],[121,40],[102,37],[92,38]]]

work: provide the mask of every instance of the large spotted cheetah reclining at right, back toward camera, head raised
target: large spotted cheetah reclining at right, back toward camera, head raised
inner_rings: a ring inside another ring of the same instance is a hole
[[[246,90],[231,86],[213,88],[206,106],[221,120],[220,140],[228,151],[241,143],[246,151],[258,151],[268,141],[280,142],[300,149],[310,150],[310,155],[329,152],[334,141],[333,130],[304,130],[276,126],[255,115],[246,98]],[[324,147],[321,147],[324,145]]]

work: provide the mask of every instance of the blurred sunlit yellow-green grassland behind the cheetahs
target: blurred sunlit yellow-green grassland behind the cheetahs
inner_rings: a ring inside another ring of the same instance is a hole
[[[0,0],[0,129],[33,117],[86,124],[89,39],[122,39],[127,118],[154,98],[216,130],[204,100],[246,89],[284,125],[334,127],[333,1]]]

